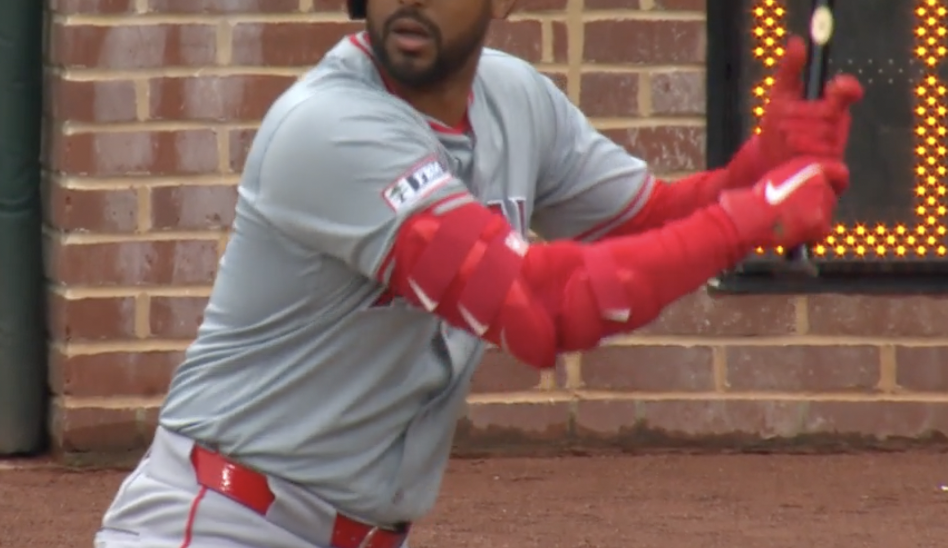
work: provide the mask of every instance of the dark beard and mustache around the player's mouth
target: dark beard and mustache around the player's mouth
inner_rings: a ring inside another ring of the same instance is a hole
[[[490,3],[484,2],[486,10],[467,32],[458,36],[450,44],[445,44],[441,30],[414,9],[399,9],[379,28],[367,22],[369,43],[375,59],[385,70],[389,78],[411,89],[428,89],[449,79],[470,61],[471,57],[481,55],[487,28],[490,26]],[[392,24],[403,17],[423,25],[431,36],[434,58],[421,64],[417,60],[405,58],[394,60],[386,48]]]

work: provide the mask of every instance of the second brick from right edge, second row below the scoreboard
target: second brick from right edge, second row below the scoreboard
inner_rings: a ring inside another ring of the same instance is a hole
[[[730,346],[731,390],[857,392],[878,390],[878,346]]]

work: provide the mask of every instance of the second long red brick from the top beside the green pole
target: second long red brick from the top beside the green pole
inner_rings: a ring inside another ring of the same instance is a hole
[[[52,168],[70,175],[194,175],[218,170],[217,135],[210,130],[54,134],[52,138]]]

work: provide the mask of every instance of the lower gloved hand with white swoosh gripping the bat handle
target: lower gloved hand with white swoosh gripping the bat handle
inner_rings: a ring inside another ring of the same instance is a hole
[[[830,233],[838,197],[849,186],[839,161],[797,158],[769,171],[751,188],[726,190],[720,205],[752,246],[795,247]]]

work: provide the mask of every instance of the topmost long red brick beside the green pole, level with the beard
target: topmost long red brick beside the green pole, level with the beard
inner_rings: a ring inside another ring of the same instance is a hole
[[[216,63],[216,28],[211,25],[54,24],[49,51],[68,68],[132,70]]]

